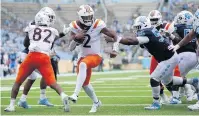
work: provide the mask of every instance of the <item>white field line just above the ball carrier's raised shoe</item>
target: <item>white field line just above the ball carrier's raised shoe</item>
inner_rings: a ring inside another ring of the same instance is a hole
[[[105,90],[105,91],[95,91],[95,93],[106,93],[106,92],[108,92],[108,93],[115,93],[115,92],[147,92],[147,91],[152,91],[152,90],[118,90],[118,91],[116,91],[116,90],[113,90],[113,91],[108,91],[108,90]],[[10,91],[2,91],[3,93],[7,93],[7,92],[9,92],[10,93]],[[74,92],[74,91],[65,91],[66,93],[67,92]],[[34,90],[32,90],[30,93],[40,93],[40,91],[34,91]],[[52,91],[52,90],[47,90],[46,91],[46,93],[56,93],[55,91]],[[81,91],[81,93],[84,93],[84,91]]]

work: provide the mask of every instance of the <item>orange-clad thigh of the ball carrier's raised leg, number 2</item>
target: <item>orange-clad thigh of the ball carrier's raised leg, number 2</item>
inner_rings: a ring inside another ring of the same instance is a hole
[[[84,57],[81,62],[84,62],[88,68],[97,67],[102,61],[102,57],[99,55],[88,55]]]

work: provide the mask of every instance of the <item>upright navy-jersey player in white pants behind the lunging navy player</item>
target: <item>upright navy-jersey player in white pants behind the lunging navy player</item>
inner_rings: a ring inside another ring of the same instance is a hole
[[[184,38],[193,28],[193,14],[189,11],[181,11],[177,14],[174,20],[175,30],[173,33],[177,34],[178,39],[173,39],[173,44],[177,44],[182,38]],[[174,35],[173,35],[174,36]],[[172,38],[172,37],[171,37]],[[180,62],[179,69],[182,77],[185,77],[187,73],[193,69],[197,64],[197,54],[196,54],[196,37],[193,37],[187,45],[181,47],[176,52],[179,54]],[[190,59],[191,57],[191,59]],[[173,98],[171,99],[171,104],[181,103],[179,99],[179,87],[174,87]],[[186,84],[184,86],[187,101],[192,101],[194,91],[191,89],[191,85]]]

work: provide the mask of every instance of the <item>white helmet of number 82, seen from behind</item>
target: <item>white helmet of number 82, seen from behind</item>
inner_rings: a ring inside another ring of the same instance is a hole
[[[46,25],[51,26],[50,18],[48,15],[44,14],[43,12],[38,12],[35,15],[35,24],[36,25]]]

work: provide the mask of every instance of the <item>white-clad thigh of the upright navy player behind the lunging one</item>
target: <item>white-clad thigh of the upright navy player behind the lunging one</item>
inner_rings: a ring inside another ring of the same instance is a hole
[[[186,74],[193,69],[198,62],[197,55],[194,52],[182,52],[179,54],[179,58],[179,69],[181,76],[186,76]]]

